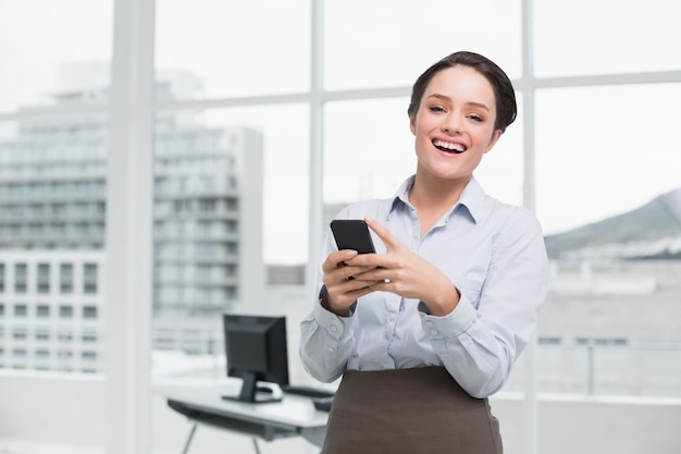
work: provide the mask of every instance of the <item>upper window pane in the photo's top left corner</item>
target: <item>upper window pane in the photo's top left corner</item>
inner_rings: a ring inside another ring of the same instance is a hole
[[[89,0],[0,2],[0,112],[74,97],[98,100],[74,89],[109,85],[112,7]]]

